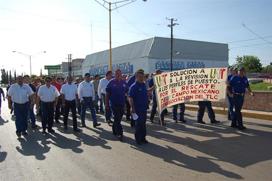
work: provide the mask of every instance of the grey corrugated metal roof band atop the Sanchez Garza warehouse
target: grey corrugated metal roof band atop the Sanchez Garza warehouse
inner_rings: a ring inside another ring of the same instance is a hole
[[[112,49],[112,63],[142,57],[170,59],[171,38],[153,37]],[[176,53],[179,54],[175,55]],[[173,56],[180,60],[228,61],[228,45],[221,43],[174,39]],[[83,67],[109,63],[109,50],[86,56]]]

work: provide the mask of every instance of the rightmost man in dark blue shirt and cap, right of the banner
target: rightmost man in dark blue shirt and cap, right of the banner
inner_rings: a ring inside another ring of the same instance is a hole
[[[243,126],[243,118],[241,109],[244,104],[245,91],[246,89],[250,92],[252,98],[255,98],[255,95],[249,87],[247,77],[244,76],[245,68],[243,66],[238,68],[238,74],[231,77],[227,82],[227,87],[233,86],[232,89],[232,100],[235,107],[235,112],[231,121],[231,127],[238,127],[239,129],[245,129]]]

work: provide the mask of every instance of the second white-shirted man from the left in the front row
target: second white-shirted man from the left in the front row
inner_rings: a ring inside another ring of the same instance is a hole
[[[57,88],[51,85],[52,78],[47,76],[45,77],[45,85],[40,87],[38,92],[38,100],[36,106],[40,108],[40,100],[42,101],[42,126],[43,133],[45,134],[46,124],[48,125],[48,132],[55,132],[52,129],[53,121],[54,121],[54,108],[56,107],[56,103],[58,101],[58,96],[60,95]]]

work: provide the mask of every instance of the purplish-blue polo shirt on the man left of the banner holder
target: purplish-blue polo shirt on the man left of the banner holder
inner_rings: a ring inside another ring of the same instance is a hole
[[[121,81],[118,82],[116,78],[111,79],[107,84],[106,92],[110,93],[110,106],[125,106],[126,92],[129,92],[129,87],[125,80],[121,79]]]

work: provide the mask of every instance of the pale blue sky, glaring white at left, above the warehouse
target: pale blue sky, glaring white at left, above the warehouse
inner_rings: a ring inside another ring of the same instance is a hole
[[[272,0],[136,0],[124,5],[128,2],[111,5],[118,7],[111,11],[112,48],[154,36],[170,38],[167,18],[174,18],[174,38],[226,43],[230,65],[244,55],[258,57],[263,66],[272,62]],[[105,7],[95,0],[0,0],[0,68],[30,74],[31,56],[32,74],[40,75],[41,68],[47,73],[44,65],[68,61],[68,54],[85,59],[108,50]]]

